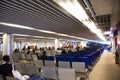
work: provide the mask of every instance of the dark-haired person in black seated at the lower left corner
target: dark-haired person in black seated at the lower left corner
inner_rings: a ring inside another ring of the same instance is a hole
[[[0,65],[0,75],[2,75],[3,80],[6,80],[6,76],[13,76],[12,75],[12,65],[9,64],[9,56],[4,55],[3,56],[3,64]]]

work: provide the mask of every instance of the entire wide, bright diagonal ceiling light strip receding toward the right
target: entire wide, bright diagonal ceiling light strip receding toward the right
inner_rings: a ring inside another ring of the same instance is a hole
[[[104,36],[100,31],[96,31],[93,29],[97,29],[95,23],[90,20],[89,16],[86,14],[83,7],[79,4],[78,0],[53,0],[58,5],[63,7],[67,12],[73,15],[76,19],[81,21],[84,25],[88,27],[93,33],[95,33],[100,39],[105,41]],[[99,34],[98,34],[99,33]]]

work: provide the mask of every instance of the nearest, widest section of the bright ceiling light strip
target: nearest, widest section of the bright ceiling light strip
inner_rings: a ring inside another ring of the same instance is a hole
[[[77,0],[54,0],[54,2],[59,4],[67,12],[71,13],[80,21],[89,18],[81,5],[79,5]]]

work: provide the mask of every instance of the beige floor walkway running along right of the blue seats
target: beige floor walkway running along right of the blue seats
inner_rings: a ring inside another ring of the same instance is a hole
[[[114,54],[104,52],[90,72],[89,80],[120,80],[120,67],[115,64]]]

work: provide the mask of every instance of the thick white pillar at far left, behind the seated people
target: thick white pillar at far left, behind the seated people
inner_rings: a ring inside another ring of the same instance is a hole
[[[3,35],[3,55],[10,55],[13,51],[13,36],[11,34]]]

